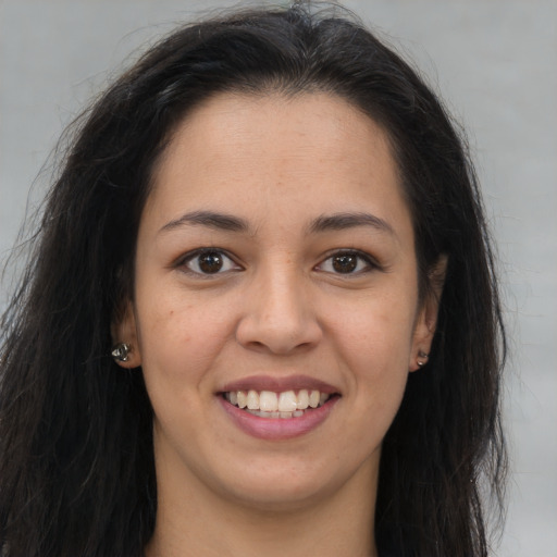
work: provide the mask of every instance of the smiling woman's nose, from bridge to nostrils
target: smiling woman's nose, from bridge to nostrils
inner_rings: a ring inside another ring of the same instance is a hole
[[[307,278],[292,267],[267,269],[246,295],[236,339],[249,349],[288,355],[319,344],[322,329]]]

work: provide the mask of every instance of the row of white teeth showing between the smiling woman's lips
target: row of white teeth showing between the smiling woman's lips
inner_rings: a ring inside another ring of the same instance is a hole
[[[259,418],[301,418],[305,413],[322,407],[336,393],[322,393],[317,389],[300,388],[299,391],[228,391],[222,397],[231,405]]]

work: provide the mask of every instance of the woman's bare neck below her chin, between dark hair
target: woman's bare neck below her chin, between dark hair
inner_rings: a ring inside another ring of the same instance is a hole
[[[274,504],[227,500],[191,476],[182,488],[158,478],[157,524],[146,556],[376,557],[376,473],[369,468],[332,494],[280,510]]]

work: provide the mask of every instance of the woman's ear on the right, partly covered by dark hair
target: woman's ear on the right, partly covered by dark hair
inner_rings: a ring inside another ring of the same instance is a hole
[[[433,335],[437,325],[437,313],[446,271],[447,257],[441,256],[428,275],[429,292],[416,319],[412,350],[408,364],[410,371],[417,371],[428,363]]]

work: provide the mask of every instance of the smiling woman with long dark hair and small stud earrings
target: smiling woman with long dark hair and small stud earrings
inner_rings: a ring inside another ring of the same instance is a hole
[[[83,117],[3,331],[4,556],[487,555],[475,176],[345,14],[148,51]]]

